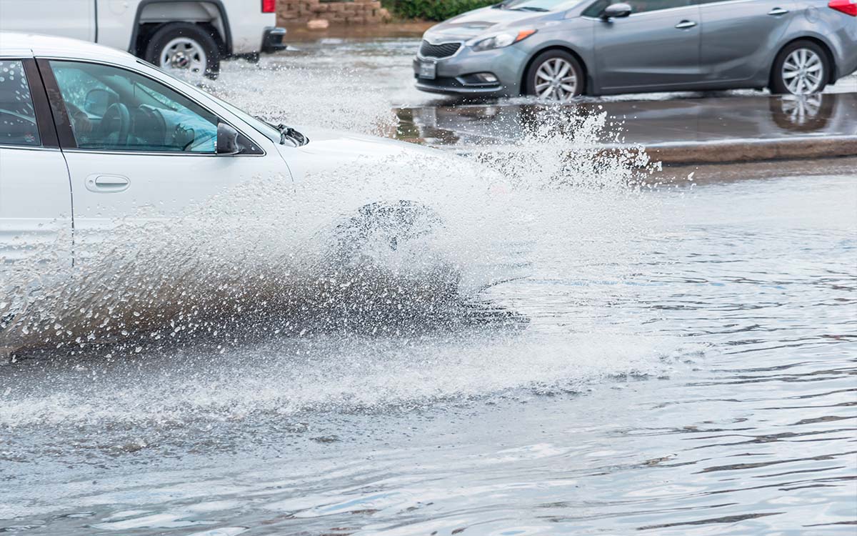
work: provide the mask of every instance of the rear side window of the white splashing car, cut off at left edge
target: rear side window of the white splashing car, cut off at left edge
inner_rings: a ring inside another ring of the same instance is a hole
[[[0,60],[0,145],[39,147],[41,144],[24,63]]]

